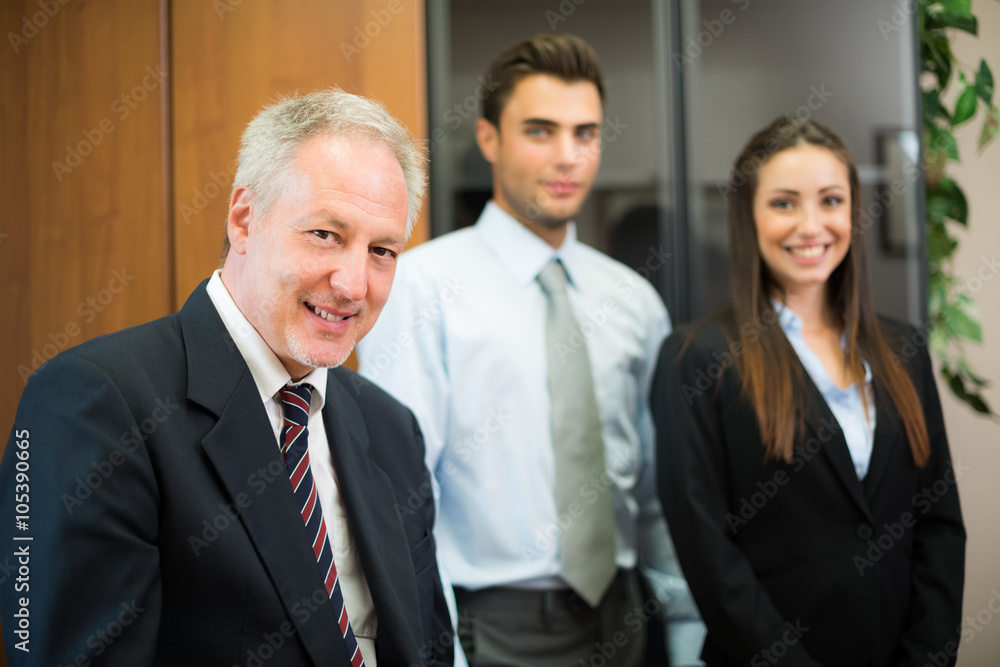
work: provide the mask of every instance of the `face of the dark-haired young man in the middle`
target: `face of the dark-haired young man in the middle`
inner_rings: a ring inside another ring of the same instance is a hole
[[[547,74],[521,79],[500,113],[480,119],[479,147],[493,165],[493,198],[540,236],[577,214],[601,163],[603,111],[597,86]]]

